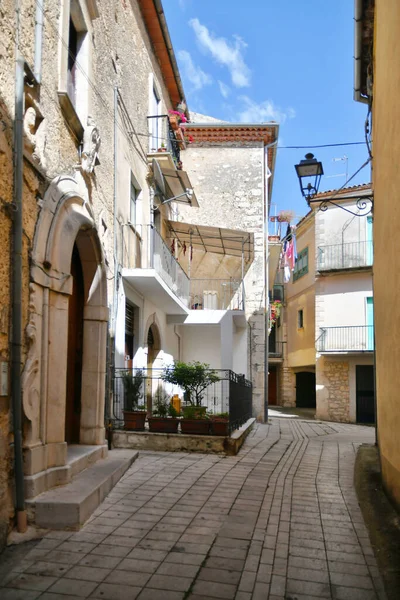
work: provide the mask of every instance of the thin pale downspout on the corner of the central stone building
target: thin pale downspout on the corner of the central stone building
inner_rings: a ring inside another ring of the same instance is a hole
[[[269,253],[268,253],[268,179],[272,172],[268,167],[268,149],[276,146],[278,140],[264,146],[264,423],[268,423],[268,315],[269,315]]]

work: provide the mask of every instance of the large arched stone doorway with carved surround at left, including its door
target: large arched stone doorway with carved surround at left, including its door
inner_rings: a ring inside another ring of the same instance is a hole
[[[85,193],[77,179],[57,178],[35,231],[23,373],[28,497],[68,480],[68,443],[105,443],[107,281]],[[80,325],[69,340],[73,313]],[[72,417],[69,402],[75,403]]]

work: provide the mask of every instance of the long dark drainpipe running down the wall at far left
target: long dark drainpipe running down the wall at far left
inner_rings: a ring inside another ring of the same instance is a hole
[[[22,457],[22,186],[24,59],[19,51],[20,2],[15,7],[15,116],[14,116],[14,218],[12,223],[12,321],[11,321],[11,403],[14,428],[15,509],[17,529],[26,531],[24,471]]]

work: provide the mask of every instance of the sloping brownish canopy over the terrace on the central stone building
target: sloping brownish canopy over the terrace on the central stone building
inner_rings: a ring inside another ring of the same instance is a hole
[[[179,221],[168,221],[168,227],[168,237],[177,239],[181,244],[215,254],[244,255],[248,261],[254,257],[254,233]]]

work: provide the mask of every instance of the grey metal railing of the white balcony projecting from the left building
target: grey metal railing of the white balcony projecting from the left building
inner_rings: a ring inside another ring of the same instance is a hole
[[[157,229],[150,225],[151,266],[163,281],[182,300],[189,304],[190,280],[176,258],[171,253]]]

